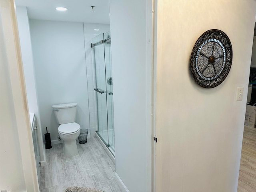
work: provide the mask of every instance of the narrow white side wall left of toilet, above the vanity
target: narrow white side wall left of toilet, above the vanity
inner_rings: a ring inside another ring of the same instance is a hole
[[[26,94],[28,100],[28,110],[34,113],[37,119],[38,143],[40,147],[40,160],[45,161],[45,146],[43,144],[40,114],[37,104],[36,84],[34,78],[34,63],[31,47],[30,28],[28,13],[26,7],[16,7],[16,16],[18,22],[20,49],[22,54],[22,63],[24,78],[26,83]]]

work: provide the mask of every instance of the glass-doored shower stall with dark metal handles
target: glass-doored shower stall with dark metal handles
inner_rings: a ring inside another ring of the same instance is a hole
[[[94,69],[98,130],[96,134],[115,156],[114,111],[110,32],[102,33],[92,39],[94,50]]]

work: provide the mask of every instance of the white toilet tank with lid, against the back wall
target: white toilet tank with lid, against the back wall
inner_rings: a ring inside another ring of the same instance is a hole
[[[77,103],[53,105],[54,114],[58,124],[72,123],[76,120]]]

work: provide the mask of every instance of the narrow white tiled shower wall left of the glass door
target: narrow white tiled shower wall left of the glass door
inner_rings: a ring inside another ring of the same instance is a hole
[[[86,68],[87,68],[87,84],[88,84],[88,100],[89,100],[89,113],[90,113],[90,129],[91,135],[94,136],[97,130],[97,104],[96,104],[96,87],[95,73],[94,73],[94,53],[91,48],[92,38],[99,34],[110,31],[108,24],[92,24],[84,23],[84,42],[86,51]],[[99,106],[100,108],[100,106]]]

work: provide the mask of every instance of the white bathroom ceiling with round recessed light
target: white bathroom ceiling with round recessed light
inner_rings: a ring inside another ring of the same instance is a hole
[[[15,4],[26,6],[30,19],[110,23],[108,0],[15,0]],[[94,11],[91,6],[95,6]],[[66,7],[68,10],[57,11],[56,7]]]

